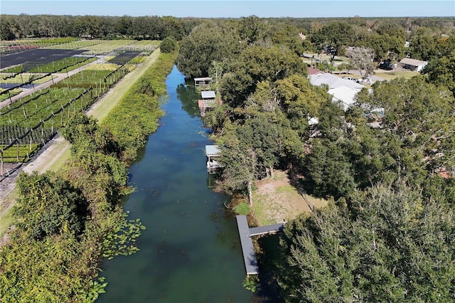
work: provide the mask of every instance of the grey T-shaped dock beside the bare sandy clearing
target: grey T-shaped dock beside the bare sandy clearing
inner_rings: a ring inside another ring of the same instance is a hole
[[[250,228],[248,226],[247,216],[236,216],[235,218],[237,219],[237,228],[240,235],[240,244],[242,245],[245,270],[247,271],[247,275],[257,275],[259,274],[259,267],[257,265],[256,252],[251,237],[253,235],[266,235],[268,233],[283,231],[284,223]]]

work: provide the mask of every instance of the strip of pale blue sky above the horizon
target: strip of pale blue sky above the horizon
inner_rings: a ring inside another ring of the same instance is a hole
[[[313,1],[125,1],[1,0],[0,14],[95,16],[176,16],[207,18],[455,16],[455,1],[313,0]]]

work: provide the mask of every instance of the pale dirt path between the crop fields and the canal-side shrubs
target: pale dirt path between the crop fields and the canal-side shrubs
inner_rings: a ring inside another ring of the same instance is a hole
[[[137,66],[131,73],[122,78],[122,80],[114,85],[103,97],[95,102],[88,110],[87,115],[95,117],[98,121],[101,121],[106,117],[107,113],[117,105],[119,100],[122,99],[123,95],[129,87],[134,84],[145,71],[153,65],[160,55],[159,48],[154,53],[151,53],[143,63]],[[60,137],[59,135],[51,139],[45,146],[38,151],[38,154],[33,156],[31,161],[21,166],[20,169],[16,170],[11,176],[0,182],[0,223],[2,218],[9,212],[11,206],[13,206],[16,198],[16,179],[21,171],[32,173],[37,171],[39,174],[43,174],[45,171],[57,171],[70,155],[70,144]],[[4,233],[4,226],[0,224],[0,235]]]

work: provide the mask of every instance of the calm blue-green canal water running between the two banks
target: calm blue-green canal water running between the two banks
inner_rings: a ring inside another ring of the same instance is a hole
[[[213,193],[205,169],[205,129],[196,113],[198,94],[174,67],[169,100],[158,131],[130,169],[137,188],[124,209],[146,226],[140,251],[102,265],[109,283],[97,302],[250,302],[229,197]]]

